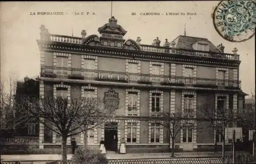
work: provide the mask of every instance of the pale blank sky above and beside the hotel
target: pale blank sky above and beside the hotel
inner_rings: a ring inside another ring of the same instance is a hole
[[[184,35],[186,24],[187,36],[207,38],[215,45],[222,43],[226,53],[232,53],[232,49],[237,47],[241,60],[239,78],[242,81],[242,90],[250,95],[252,90],[255,92],[255,38],[241,43],[224,40],[215,30],[211,18],[218,3],[219,1],[113,2],[112,15],[127,31],[124,39],[136,40],[140,37],[141,44],[152,44],[156,37],[159,37],[161,44],[165,39],[172,41],[177,36]],[[51,34],[71,36],[73,32],[75,37],[81,37],[82,30],[86,30],[87,36],[99,35],[98,28],[108,23],[111,17],[111,2],[0,4],[2,82],[6,81],[10,74],[18,80],[26,75],[39,75],[40,51],[36,40],[40,38],[41,24],[44,24]],[[34,12],[63,12],[65,15],[31,15]],[[166,15],[166,12],[196,15]]]

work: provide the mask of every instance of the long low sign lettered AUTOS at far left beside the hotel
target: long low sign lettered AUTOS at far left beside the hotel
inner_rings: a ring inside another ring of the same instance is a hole
[[[28,145],[33,145],[33,144],[39,144],[39,138],[38,137],[20,137],[20,138],[6,138],[6,139],[1,139],[1,144],[4,145],[23,145],[23,144],[28,144]]]

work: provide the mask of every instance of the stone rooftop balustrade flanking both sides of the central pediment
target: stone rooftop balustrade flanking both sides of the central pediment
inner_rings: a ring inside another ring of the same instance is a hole
[[[72,37],[72,36],[64,36],[64,35],[55,35],[50,34],[50,41],[55,42],[63,42],[63,43],[73,43],[73,44],[82,44],[82,38]],[[228,59],[239,61],[238,54],[231,53],[218,53],[218,52],[210,52],[210,51],[200,51],[200,50],[188,50],[188,49],[178,49],[178,48],[170,48],[170,47],[158,47],[153,45],[140,45],[142,51],[147,52],[158,52],[158,53],[172,53],[172,54],[181,54],[185,56],[197,56],[197,57],[207,57],[214,59]]]

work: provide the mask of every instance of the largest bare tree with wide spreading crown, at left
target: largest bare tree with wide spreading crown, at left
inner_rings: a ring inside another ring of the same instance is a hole
[[[103,124],[118,108],[119,99],[26,97],[23,111],[61,136],[62,162],[67,163],[69,136]]]

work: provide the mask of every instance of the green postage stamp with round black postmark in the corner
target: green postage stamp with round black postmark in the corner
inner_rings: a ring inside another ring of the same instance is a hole
[[[243,42],[254,36],[254,1],[221,1],[212,15],[216,31],[230,42]]]

